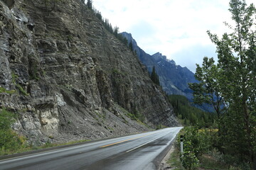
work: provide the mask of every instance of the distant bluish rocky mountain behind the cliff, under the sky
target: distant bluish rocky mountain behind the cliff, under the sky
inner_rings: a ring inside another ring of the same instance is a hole
[[[130,33],[121,33],[128,42],[132,42],[134,50],[137,52],[139,60],[144,64],[149,72],[152,68],[156,68],[156,73],[159,75],[159,81],[164,91],[167,94],[178,94],[191,99],[193,91],[189,89],[188,83],[196,82],[193,72],[186,67],[176,65],[174,60],[166,59],[166,56],[157,52],[154,55],[149,55],[142,50],[136,40],[132,38]]]

